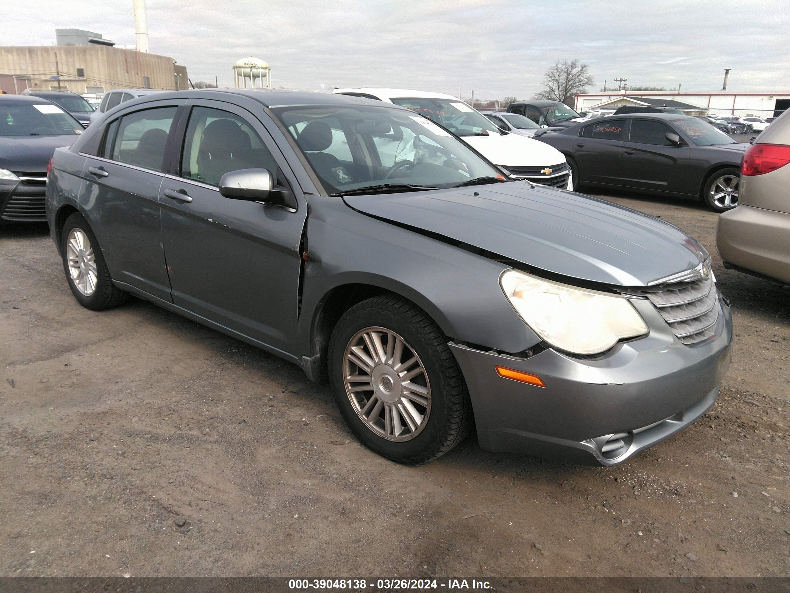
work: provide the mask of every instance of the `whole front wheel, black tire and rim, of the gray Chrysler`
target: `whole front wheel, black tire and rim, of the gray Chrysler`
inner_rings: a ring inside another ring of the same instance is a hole
[[[350,308],[329,342],[329,381],[355,435],[398,463],[426,463],[467,435],[472,405],[448,339],[394,295]]]

